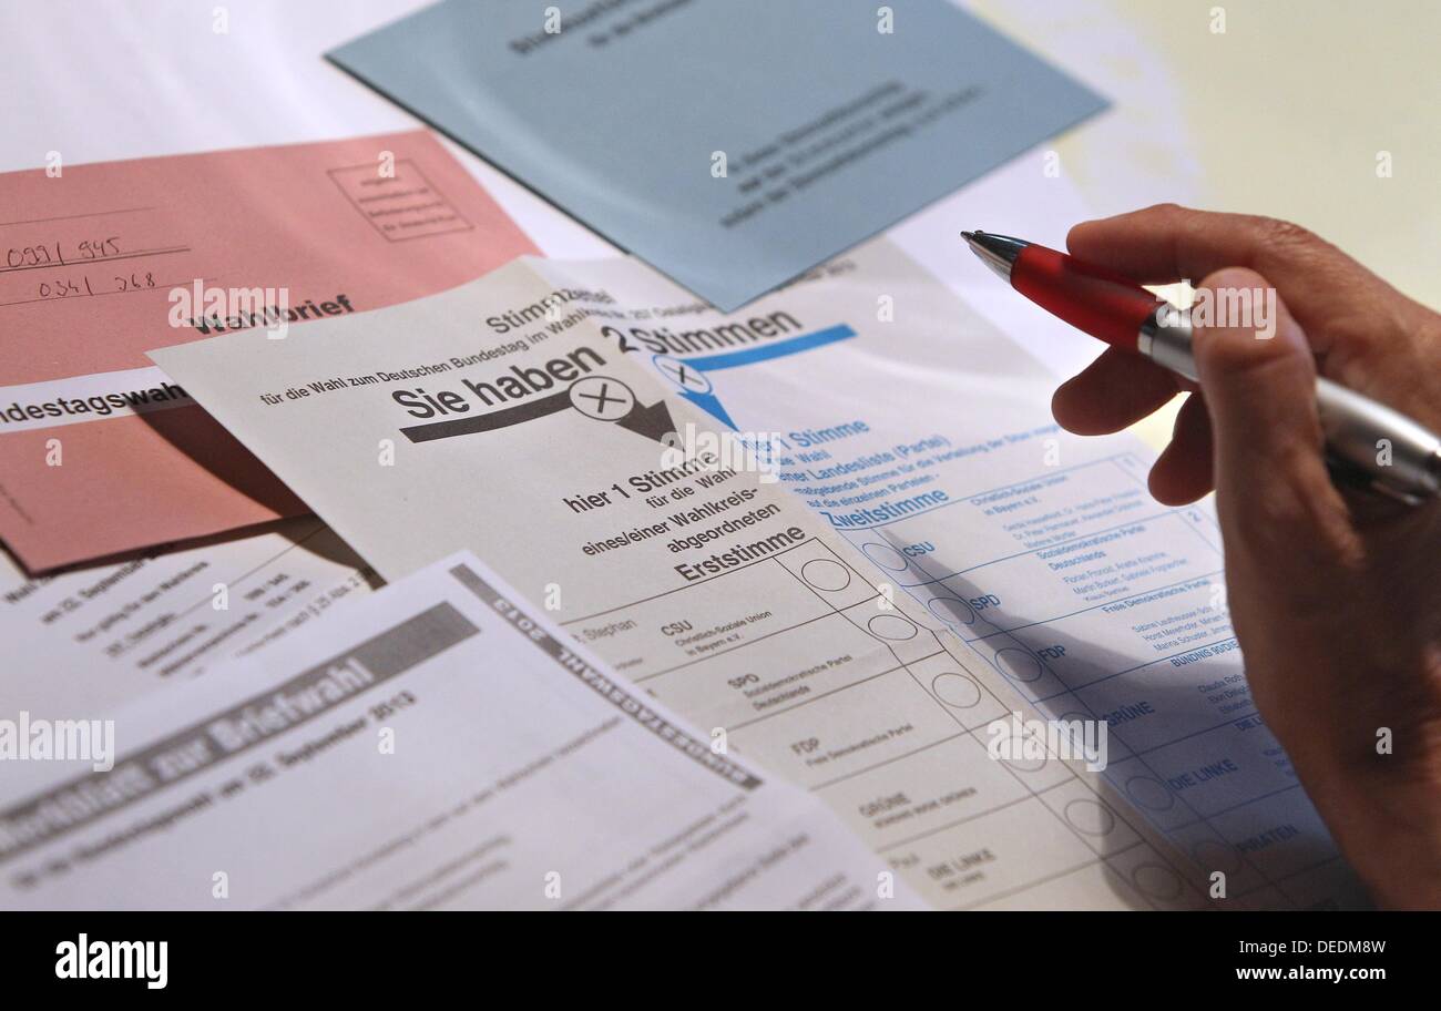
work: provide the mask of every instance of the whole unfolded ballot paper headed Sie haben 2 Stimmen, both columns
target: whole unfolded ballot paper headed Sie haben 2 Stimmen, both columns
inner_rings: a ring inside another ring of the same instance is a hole
[[[937,906],[1359,897],[1209,511],[1059,431],[1053,379],[885,241],[729,315],[525,258],[151,357],[380,575],[476,550]]]

